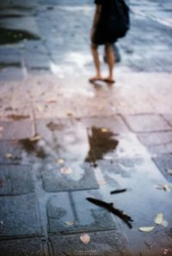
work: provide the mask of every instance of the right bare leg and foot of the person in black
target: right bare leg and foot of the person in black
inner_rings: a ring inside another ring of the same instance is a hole
[[[107,65],[108,65],[108,71],[109,74],[105,80],[114,81],[114,48],[113,44],[106,43],[105,44],[105,54],[107,57]]]

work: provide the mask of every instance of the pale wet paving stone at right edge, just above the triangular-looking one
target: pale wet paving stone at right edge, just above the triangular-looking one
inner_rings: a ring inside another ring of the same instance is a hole
[[[161,131],[138,134],[138,139],[144,144],[151,154],[172,153],[172,131]]]

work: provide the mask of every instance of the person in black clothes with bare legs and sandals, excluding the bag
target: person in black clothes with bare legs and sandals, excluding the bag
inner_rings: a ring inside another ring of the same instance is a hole
[[[94,77],[89,79],[90,82],[95,82],[96,80],[104,80],[108,83],[114,83],[114,42],[116,41],[116,39],[113,38],[113,35],[109,35],[109,33],[107,33],[105,22],[107,16],[109,16],[110,14],[111,1],[95,0],[95,16],[90,36],[91,52],[93,54],[93,59],[95,62],[96,74]],[[99,54],[97,51],[99,45],[105,46],[105,54],[109,71],[107,78],[104,79],[101,76],[101,64],[99,60]]]

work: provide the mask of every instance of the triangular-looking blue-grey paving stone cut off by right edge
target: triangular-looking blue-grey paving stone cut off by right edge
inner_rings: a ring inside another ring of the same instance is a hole
[[[157,167],[162,172],[163,176],[169,182],[172,182],[172,175],[168,174],[168,170],[172,171],[172,154],[153,157],[153,160],[157,164]]]

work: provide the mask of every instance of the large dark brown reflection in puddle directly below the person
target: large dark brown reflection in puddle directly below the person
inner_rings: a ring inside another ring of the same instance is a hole
[[[89,153],[85,161],[94,163],[101,160],[108,152],[116,149],[119,144],[118,140],[114,139],[112,131],[103,132],[101,128],[92,127],[88,130],[89,134]]]

